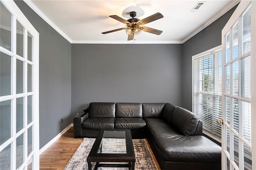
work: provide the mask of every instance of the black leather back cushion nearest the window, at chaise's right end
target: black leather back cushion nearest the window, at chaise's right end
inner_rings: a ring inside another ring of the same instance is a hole
[[[170,119],[170,125],[182,135],[194,135],[199,117],[181,107],[176,107]]]

